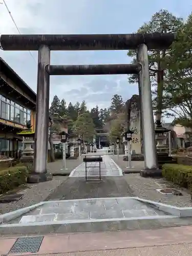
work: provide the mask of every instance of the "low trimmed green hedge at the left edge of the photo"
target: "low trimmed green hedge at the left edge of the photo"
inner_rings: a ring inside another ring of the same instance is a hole
[[[14,166],[0,170],[0,194],[27,183],[27,167]]]

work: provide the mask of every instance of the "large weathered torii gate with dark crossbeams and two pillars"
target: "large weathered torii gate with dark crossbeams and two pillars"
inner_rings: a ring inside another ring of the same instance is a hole
[[[147,50],[167,49],[175,34],[99,34],[99,35],[1,35],[4,51],[38,51],[37,102],[34,172],[40,181],[47,180],[50,75],[138,74],[141,97],[145,168],[141,175],[159,172],[152,93]],[[137,63],[127,65],[50,65],[50,51],[136,50]],[[38,178],[38,180],[39,180]]]

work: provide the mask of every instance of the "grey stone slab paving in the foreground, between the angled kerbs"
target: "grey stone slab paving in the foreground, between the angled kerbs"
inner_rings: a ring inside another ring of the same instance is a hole
[[[96,222],[137,217],[144,219],[158,216],[163,217],[167,214],[134,198],[103,198],[48,202],[27,212],[18,220],[13,219],[11,223],[30,225],[43,222],[46,225],[46,222],[56,223],[57,221],[78,223],[79,221],[91,222],[94,220]]]

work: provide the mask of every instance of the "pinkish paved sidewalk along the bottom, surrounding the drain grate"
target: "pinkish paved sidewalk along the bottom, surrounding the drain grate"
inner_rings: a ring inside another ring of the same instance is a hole
[[[0,254],[8,254],[17,238],[0,239]],[[59,255],[191,255],[192,227],[45,236],[38,254]],[[18,255],[9,254],[10,256]],[[30,252],[25,255],[31,255]]]

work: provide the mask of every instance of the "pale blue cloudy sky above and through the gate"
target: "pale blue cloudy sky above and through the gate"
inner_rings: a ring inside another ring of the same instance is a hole
[[[0,34],[18,34],[0,0]],[[6,4],[19,28],[27,34],[103,34],[133,33],[160,9],[167,9],[184,19],[192,10],[189,0],[7,0]],[[32,52],[37,62],[37,52]],[[0,56],[36,92],[37,65],[29,52],[4,52]],[[52,52],[57,65],[129,63],[126,51]],[[50,101],[57,95],[70,101],[86,100],[89,108],[110,105],[114,94],[124,100],[138,94],[125,75],[52,76]]]

